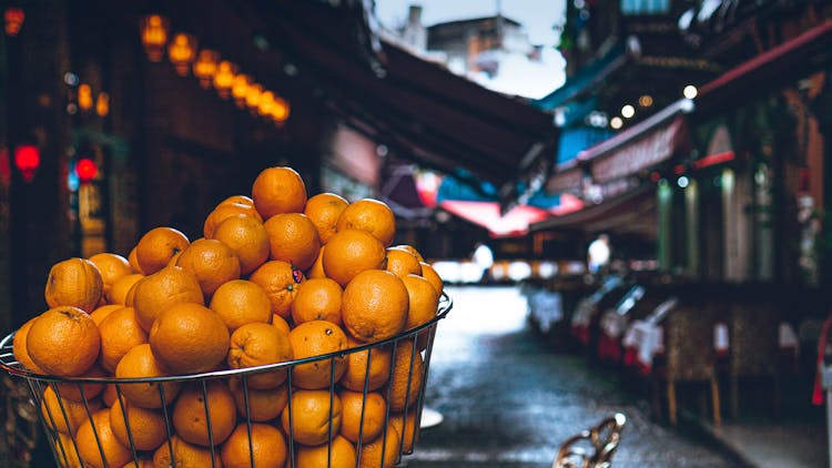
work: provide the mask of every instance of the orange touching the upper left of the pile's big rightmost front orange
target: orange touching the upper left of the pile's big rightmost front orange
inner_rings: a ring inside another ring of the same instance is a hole
[[[365,231],[343,230],[329,238],[322,263],[326,276],[346,286],[361,272],[384,269],[387,251],[381,241]]]

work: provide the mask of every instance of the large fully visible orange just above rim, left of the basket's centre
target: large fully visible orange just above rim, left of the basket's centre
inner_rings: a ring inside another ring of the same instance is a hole
[[[200,304],[174,304],[162,312],[150,329],[153,355],[174,375],[199,374],[217,368],[229,353],[225,323]]]

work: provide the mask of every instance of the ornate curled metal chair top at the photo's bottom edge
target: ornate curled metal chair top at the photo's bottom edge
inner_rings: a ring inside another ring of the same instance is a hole
[[[621,441],[627,417],[621,413],[567,439],[558,450],[552,468],[608,468]]]

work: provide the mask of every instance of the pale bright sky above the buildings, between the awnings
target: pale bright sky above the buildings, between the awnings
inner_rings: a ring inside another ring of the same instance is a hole
[[[552,29],[562,22],[566,0],[375,0],[378,20],[388,28],[397,28],[407,18],[410,4],[422,6],[422,22],[439,22],[494,16],[497,11],[524,26],[531,43],[544,45],[542,60],[534,63],[524,57],[507,55],[495,78],[476,77],[483,87],[506,94],[539,99],[566,80],[566,62],[555,50],[558,37]]]

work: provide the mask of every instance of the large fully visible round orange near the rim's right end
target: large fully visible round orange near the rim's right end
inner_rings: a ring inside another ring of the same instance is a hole
[[[408,306],[407,287],[398,276],[384,269],[368,269],[344,288],[341,318],[358,340],[378,342],[404,329]]]

